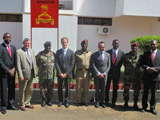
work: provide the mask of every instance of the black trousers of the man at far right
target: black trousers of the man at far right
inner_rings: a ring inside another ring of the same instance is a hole
[[[143,97],[142,97],[142,106],[143,108],[147,108],[147,100],[148,100],[148,93],[149,89],[151,91],[151,99],[150,99],[150,108],[154,109],[156,106],[156,99],[157,99],[157,87],[158,87],[158,81],[152,81],[151,79],[145,79],[144,80],[144,91],[143,91]]]

